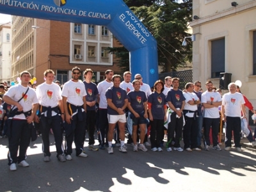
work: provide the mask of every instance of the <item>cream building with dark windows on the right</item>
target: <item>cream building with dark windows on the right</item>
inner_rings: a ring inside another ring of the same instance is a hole
[[[193,18],[193,80],[219,87],[223,73],[232,73],[256,107],[256,1],[193,0]]]

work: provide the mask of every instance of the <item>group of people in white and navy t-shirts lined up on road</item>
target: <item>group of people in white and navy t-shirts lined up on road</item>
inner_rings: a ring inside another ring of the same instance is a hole
[[[212,89],[211,81],[206,82],[205,92],[200,91],[202,85],[198,80],[194,84],[186,84],[182,91],[179,89],[179,78],[168,76],[164,82],[157,80],[151,91],[140,74],[134,75],[131,82],[130,71],[124,73],[122,82],[120,75],[107,70],[106,78],[98,85],[92,82],[91,69],[84,71],[83,82],[79,80],[81,73],[77,66],[72,68],[72,79],[61,90],[60,85],[54,83],[54,71],[46,70],[45,82],[35,90],[29,87],[30,73],[23,71],[20,84],[13,85],[4,93],[3,101],[10,109],[6,130],[10,170],[17,170],[17,164],[29,166],[26,150],[34,124],[42,133],[45,162],[51,161],[50,129],[54,134],[56,157],[61,162],[72,160],[73,142],[77,157],[88,156],[84,151],[86,130],[88,150],[98,151],[107,147],[108,154],[113,154],[114,146],[119,147],[120,152],[127,152],[125,129],[134,152],[148,151],[148,141],[152,151],[163,151],[164,135],[167,136],[168,152],[201,151],[202,129],[205,150],[210,150],[209,133],[212,131],[212,149],[221,151],[218,142],[220,121],[227,124],[225,151],[231,149],[232,131],[236,150],[241,151],[241,119],[245,118],[246,111],[244,97],[236,91],[235,83],[228,85],[229,92],[221,98],[220,92]],[[99,148],[94,145],[95,127]],[[180,146],[182,132],[184,149]],[[250,137],[251,142],[255,142],[252,133]]]

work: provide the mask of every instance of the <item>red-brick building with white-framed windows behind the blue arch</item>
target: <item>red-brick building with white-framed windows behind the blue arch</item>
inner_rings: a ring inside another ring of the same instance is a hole
[[[13,35],[13,80],[18,72],[28,70],[36,77],[36,84],[41,84],[44,71],[51,69],[64,84],[74,66],[83,71],[91,68],[95,82],[103,80],[108,69],[120,73],[115,58],[106,50],[113,47],[113,36],[106,27],[36,18],[24,18],[22,23],[21,18],[13,17],[13,28],[25,34],[24,38]]]

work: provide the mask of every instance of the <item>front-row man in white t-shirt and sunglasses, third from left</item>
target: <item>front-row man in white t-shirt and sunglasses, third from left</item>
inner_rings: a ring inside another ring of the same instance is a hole
[[[84,137],[86,126],[86,91],[83,82],[79,80],[81,70],[72,68],[73,78],[66,82],[62,89],[62,101],[65,111],[65,154],[68,161],[72,160],[72,143],[76,145],[76,156],[86,158],[84,152]]]

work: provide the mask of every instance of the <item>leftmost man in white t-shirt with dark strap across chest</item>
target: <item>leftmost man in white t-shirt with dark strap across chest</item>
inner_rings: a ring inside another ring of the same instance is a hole
[[[12,118],[12,121],[10,122],[8,119],[6,133],[9,141],[8,165],[10,165],[11,171],[17,170],[16,163],[19,166],[29,166],[25,160],[26,152],[30,143],[33,119],[38,108],[36,92],[28,85],[31,80],[30,73],[28,71],[20,73],[20,80],[21,84],[10,87],[3,97],[6,103],[13,106],[13,113],[11,112],[9,117],[9,119]],[[17,156],[18,151],[19,156]]]

